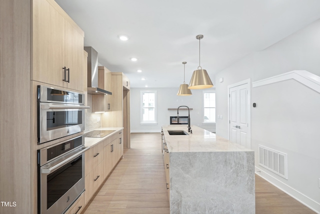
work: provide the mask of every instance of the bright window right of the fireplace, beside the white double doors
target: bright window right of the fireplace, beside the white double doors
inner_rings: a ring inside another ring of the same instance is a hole
[[[203,123],[215,123],[214,91],[203,91]]]

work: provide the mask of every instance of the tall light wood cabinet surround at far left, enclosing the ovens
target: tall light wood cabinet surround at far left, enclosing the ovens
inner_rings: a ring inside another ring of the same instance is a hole
[[[0,1],[0,213],[35,214],[34,89],[83,93],[84,33],[54,0]]]

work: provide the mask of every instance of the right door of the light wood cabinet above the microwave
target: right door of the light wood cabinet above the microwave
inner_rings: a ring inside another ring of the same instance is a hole
[[[70,23],[65,22],[65,87],[83,91],[83,36]]]

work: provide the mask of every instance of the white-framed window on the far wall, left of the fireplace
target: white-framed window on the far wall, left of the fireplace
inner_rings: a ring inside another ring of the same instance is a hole
[[[141,123],[156,123],[156,91],[141,91]]]

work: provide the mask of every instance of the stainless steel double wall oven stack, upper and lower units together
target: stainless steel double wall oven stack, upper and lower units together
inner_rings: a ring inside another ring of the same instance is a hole
[[[39,214],[64,213],[84,191],[86,108],[84,94],[37,87],[37,143],[56,142],[37,150]]]

